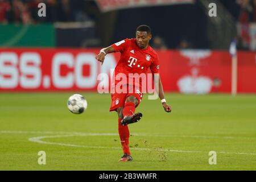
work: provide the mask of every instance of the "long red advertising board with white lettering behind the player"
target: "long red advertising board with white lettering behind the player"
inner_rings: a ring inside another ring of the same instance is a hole
[[[96,61],[99,49],[0,48],[0,92],[97,91],[110,77],[119,53]],[[205,94],[231,91],[228,51],[158,51],[166,92]],[[238,93],[256,93],[256,53],[238,52]]]

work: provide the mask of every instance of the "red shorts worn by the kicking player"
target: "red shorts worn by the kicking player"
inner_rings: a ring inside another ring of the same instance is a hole
[[[111,94],[111,106],[109,111],[114,111],[117,110],[118,107],[123,107],[125,106],[125,100],[127,97],[129,96],[134,96],[137,98],[138,100],[138,104],[135,106],[137,107],[139,105],[139,103],[141,103],[142,97],[143,97],[143,93],[141,92],[141,87],[136,87],[133,86],[133,92],[128,92],[128,93],[112,93]]]

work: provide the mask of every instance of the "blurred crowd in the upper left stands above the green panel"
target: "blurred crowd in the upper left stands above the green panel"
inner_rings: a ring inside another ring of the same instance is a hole
[[[47,7],[46,17],[39,17],[39,3]],[[0,23],[73,22],[90,20],[81,0],[0,0]]]

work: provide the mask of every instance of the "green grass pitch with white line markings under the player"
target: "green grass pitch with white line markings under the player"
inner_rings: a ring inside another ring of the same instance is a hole
[[[255,170],[256,96],[166,94],[172,113],[143,96],[129,125],[133,162],[121,163],[110,95],[81,93],[88,109],[68,111],[73,93],[0,93],[0,170]],[[46,165],[39,165],[39,151]],[[217,164],[209,164],[209,151]]]

